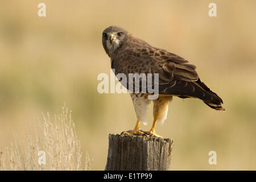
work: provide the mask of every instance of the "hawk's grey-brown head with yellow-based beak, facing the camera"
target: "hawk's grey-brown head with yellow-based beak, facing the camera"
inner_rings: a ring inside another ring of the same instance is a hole
[[[117,26],[110,26],[102,32],[102,45],[109,57],[123,46],[129,36],[129,32]]]

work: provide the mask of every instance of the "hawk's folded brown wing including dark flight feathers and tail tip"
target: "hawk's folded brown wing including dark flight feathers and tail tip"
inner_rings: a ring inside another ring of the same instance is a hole
[[[196,66],[174,53],[150,46],[126,48],[113,57],[112,68],[115,75],[125,73],[127,78],[129,73],[158,73],[159,94],[200,98],[213,109],[223,110],[221,98],[200,81]]]

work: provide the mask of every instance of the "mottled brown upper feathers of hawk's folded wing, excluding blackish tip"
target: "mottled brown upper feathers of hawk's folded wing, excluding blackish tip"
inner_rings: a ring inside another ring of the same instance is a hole
[[[158,73],[160,93],[165,94],[177,81],[197,81],[195,65],[174,53],[154,47],[136,47],[122,50],[112,60],[112,68],[117,73]],[[167,93],[166,93],[167,94]]]

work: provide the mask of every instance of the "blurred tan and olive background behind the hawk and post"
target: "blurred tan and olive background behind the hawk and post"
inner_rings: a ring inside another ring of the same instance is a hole
[[[38,3],[46,3],[46,17]],[[208,5],[217,4],[217,17]],[[133,129],[129,94],[99,94],[110,74],[101,45],[111,25],[197,66],[202,81],[224,100],[225,113],[200,100],[175,97],[156,132],[174,139],[171,169],[256,169],[255,1],[1,1],[0,147],[25,136],[30,123],[67,102],[82,150],[103,170],[108,134]],[[148,110],[149,130],[152,104]],[[208,152],[217,152],[217,165]]]

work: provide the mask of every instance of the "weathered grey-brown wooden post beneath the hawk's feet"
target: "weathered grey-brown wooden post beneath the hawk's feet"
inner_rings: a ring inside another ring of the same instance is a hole
[[[106,171],[170,169],[172,139],[109,134]]]

